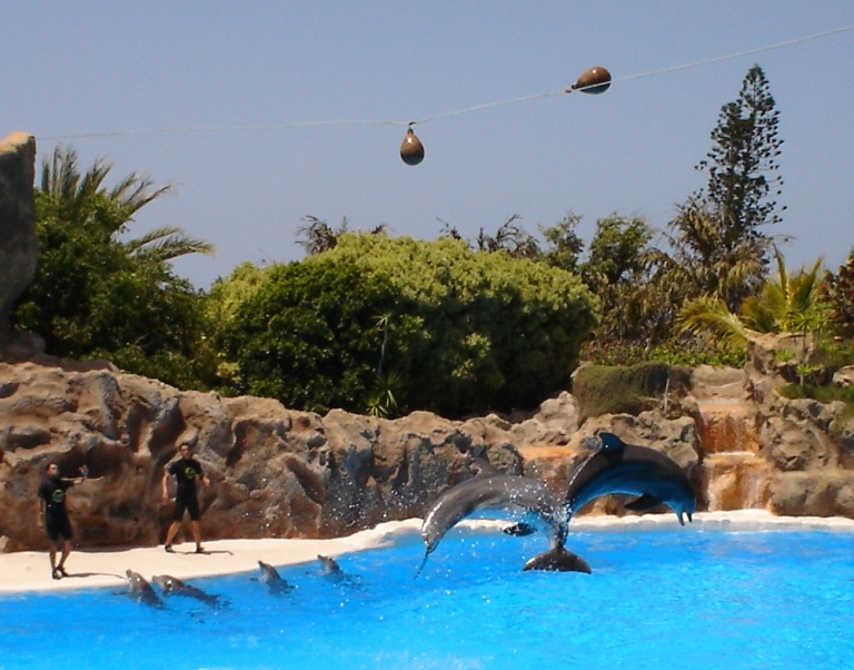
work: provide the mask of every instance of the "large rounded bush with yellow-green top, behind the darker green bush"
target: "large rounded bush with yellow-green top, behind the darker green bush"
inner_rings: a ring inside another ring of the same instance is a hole
[[[389,358],[413,407],[529,407],[566,387],[596,319],[575,275],[460,240],[348,235],[329,257],[389,277],[417,319],[407,355]]]

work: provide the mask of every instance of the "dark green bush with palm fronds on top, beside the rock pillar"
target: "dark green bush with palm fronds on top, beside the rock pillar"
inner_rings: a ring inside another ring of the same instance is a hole
[[[105,357],[129,372],[203,386],[210,366],[201,295],[168,260],[211,247],[173,227],[122,239],[133,215],[170,187],[132,174],[108,188],[110,170],[98,159],[81,173],[75,151],[62,147],[44,162],[36,189],[38,268],[13,318],[39,333],[51,354]]]

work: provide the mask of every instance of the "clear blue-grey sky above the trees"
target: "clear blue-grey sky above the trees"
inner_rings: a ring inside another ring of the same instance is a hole
[[[792,269],[854,247],[854,30],[672,69],[852,27],[851,0],[4,0],[2,17],[0,135],[34,135],[39,165],[62,142],[115,180],[172,183],[130,231],[215,243],[175,265],[200,288],[302,258],[307,215],[425,239],[569,211],[587,242],[614,213],[664,229],[755,63],[784,140],[767,233],[794,236]],[[594,65],[606,93],[547,95]],[[417,167],[398,154],[413,120]]]

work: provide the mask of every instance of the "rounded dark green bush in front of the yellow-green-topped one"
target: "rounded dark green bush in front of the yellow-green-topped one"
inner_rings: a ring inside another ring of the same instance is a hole
[[[299,410],[361,412],[380,357],[376,318],[397,296],[381,276],[312,258],[267,268],[225,324],[236,391]]]

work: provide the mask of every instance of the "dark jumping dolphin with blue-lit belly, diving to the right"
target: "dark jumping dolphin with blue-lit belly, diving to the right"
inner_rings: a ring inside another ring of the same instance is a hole
[[[692,520],[697,497],[691,481],[673,459],[646,446],[626,444],[613,433],[599,433],[598,451],[576,467],[566,491],[572,518],[595,497],[626,493],[639,497],[626,505],[642,512],[666,504],[682,525]]]

